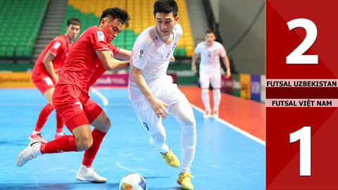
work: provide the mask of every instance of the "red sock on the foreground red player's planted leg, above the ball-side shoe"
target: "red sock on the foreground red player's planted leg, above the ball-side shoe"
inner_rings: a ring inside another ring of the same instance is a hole
[[[99,151],[100,145],[106,132],[100,132],[98,129],[92,131],[93,145],[87,151],[84,152],[82,165],[86,167],[91,167],[96,156],[97,151]]]

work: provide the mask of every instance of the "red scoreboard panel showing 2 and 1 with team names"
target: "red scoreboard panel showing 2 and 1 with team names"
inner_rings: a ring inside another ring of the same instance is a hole
[[[266,189],[338,189],[337,62],[338,1],[266,1]]]

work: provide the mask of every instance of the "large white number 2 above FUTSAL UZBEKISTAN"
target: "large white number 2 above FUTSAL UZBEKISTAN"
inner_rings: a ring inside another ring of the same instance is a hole
[[[318,55],[303,55],[317,38],[317,27],[315,23],[306,18],[296,18],[287,22],[289,30],[296,27],[303,27],[306,30],[306,37],[299,46],[287,56],[287,64],[318,64]]]

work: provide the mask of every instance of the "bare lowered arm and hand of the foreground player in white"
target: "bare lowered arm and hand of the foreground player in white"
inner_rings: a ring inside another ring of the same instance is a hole
[[[139,90],[142,91],[142,94],[146,97],[149,101],[151,108],[153,108],[154,112],[156,113],[158,118],[165,118],[168,115],[168,104],[164,103],[163,101],[159,100],[154,96],[154,94],[149,89],[148,85],[146,84],[146,80],[142,76],[142,70],[139,68],[134,67],[133,65],[130,67],[132,70],[132,78],[134,82],[139,87]]]

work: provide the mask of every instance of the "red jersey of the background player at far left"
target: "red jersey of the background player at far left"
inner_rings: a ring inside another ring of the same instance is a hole
[[[34,68],[32,70],[32,79],[37,80],[42,76],[51,77],[49,72],[46,70],[44,63],[42,62],[44,61],[44,56],[46,56],[46,53],[51,53],[54,56],[52,62],[54,65],[54,70],[58,75],[63,63],[65,63],[65,57],[67,56],[70,45],[71,44],[68,45],[68,39],[65,34],[51,40],[51,42],[49,42],[49,44],[44,48],[44,51],[40,53],[39,58],[37,58],[37,61],[35,62]]]

